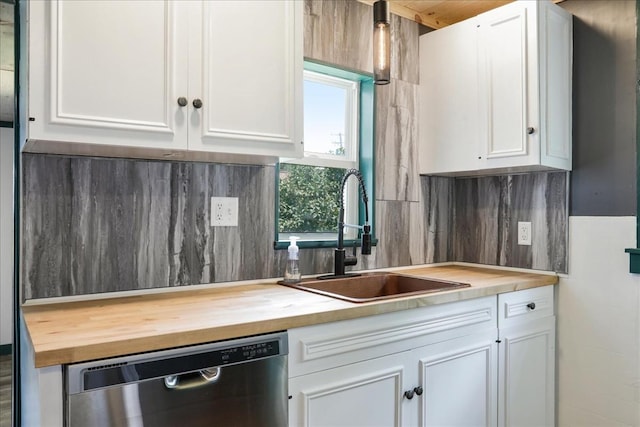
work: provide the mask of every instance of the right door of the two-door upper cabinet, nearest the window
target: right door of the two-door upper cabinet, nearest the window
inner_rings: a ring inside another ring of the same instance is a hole
[[[194,8],[189,89],[202,107],[192,117],[190,150],[301,155],[302,8],[299,1]]]

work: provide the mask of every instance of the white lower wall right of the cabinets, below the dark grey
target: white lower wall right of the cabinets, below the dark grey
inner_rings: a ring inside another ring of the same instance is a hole
[[[636,217],[570,217],[558,286],[558,425],[640,426]]]

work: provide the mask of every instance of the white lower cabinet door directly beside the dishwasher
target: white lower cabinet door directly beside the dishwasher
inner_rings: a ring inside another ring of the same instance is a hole
[[[406,357],[370,359],[289,379],[291,427],[373,427],[403,421]],[[415,399],[413,399],[415,400]]]

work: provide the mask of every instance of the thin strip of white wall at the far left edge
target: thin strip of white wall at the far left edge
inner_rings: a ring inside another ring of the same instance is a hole
[[[13,129],[0,128],[0,344],[13,342]]]

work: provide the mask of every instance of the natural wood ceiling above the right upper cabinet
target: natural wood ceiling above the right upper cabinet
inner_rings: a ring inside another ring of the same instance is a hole
[[[358,0],[373,4],[375,0]],[[388,0],[389,11],[434,29],[464,21],[513,0]],[[553,0],[560,3],[564,0]]]

